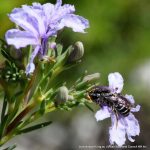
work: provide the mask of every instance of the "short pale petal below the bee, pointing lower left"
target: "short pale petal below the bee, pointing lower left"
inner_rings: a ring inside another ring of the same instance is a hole
[[[103,106],[99,111],[96,112],[95,118],[97,121],[104,120],[110,117],[110,111],[107,106]]]

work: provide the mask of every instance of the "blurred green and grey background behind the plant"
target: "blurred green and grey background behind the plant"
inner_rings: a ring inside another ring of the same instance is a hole
[[[32,0],[0,0],[0,37],[14,27],[7,14]],[[36,2],[55,3],[55,0]],[[123,93],[134,95],[142,106],[136,113],[141,133],[134,143],[127,145],[150,146],[150,1],[149,0],[63,0],[74,4],[76,14],[90,22],[87,34],[65,29],[58,38],[64,47],[82,41],[85,55],[82,63],[64,72],[60,80],[71,85],[85,70],[100,72],[101,85],[106,85],[110,72],[120,72],[125,80]],[[67,77],[67,78],[66,78]],[[92,108],[98,110],[96,105]],[[86,145],[108,145],[110,120],[96,122],[94,113],[87,108],[71,112],[57,111],[48,114],[54,123],[44,129],[21,135],[8,144],[17,143],[17,150],[75,150]],[[150,147],[149,147],[150,148]],[[142,149],[142,148],[141,148]]]

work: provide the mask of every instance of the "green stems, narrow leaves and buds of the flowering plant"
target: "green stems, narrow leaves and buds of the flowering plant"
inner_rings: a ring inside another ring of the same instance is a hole
[[[89,103],[86,93],[94,86],[93,81],[99,79],[98,73],[84,74],[70,88],[63,86],[63,82],[56,84],[61,72],[80,62],[84,53],[81,42],[69,46],[66,50],[63,50],[62,45],[56,45],[42,60],[36,59],[35,71],[28,76],[25,74],[27,62],[22,60],[27,60],[30,52],[28,55],[20,55],[17,59],[11,55],[12,47],[6,43],[2,42],[0,48],[4,57],[4,65],[0,70],[0,83],[4,90],[0,146],[15,135],[50,125],[51,121],[28,127],[30,123],[56,109],[68,111],[80,105],[86,105],[90,109],[86,104]]]

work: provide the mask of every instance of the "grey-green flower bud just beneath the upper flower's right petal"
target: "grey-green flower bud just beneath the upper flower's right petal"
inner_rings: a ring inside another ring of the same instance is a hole
[[[80,60],[83,57],[83,54],[84,54],[84,46],[82,42],[78,41],[72,47],[72,50],[68,57],[68,62],[74,62]]]

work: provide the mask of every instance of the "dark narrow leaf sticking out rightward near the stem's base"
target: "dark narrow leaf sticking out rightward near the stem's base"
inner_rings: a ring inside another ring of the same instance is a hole
[[[28,133],[28,132],[31,132],[31,131],[34,131],[34,130],[46,127],[46,126],[50,125],[51,123],[52,123],[52,121],[48,121],[48,122],[44,122],[44,123],[40,123],[40,124],[34,125],[34,126],[31,126],[31,127],[28,127],[28,128],[20,130],[18,132],[18,134]]]

